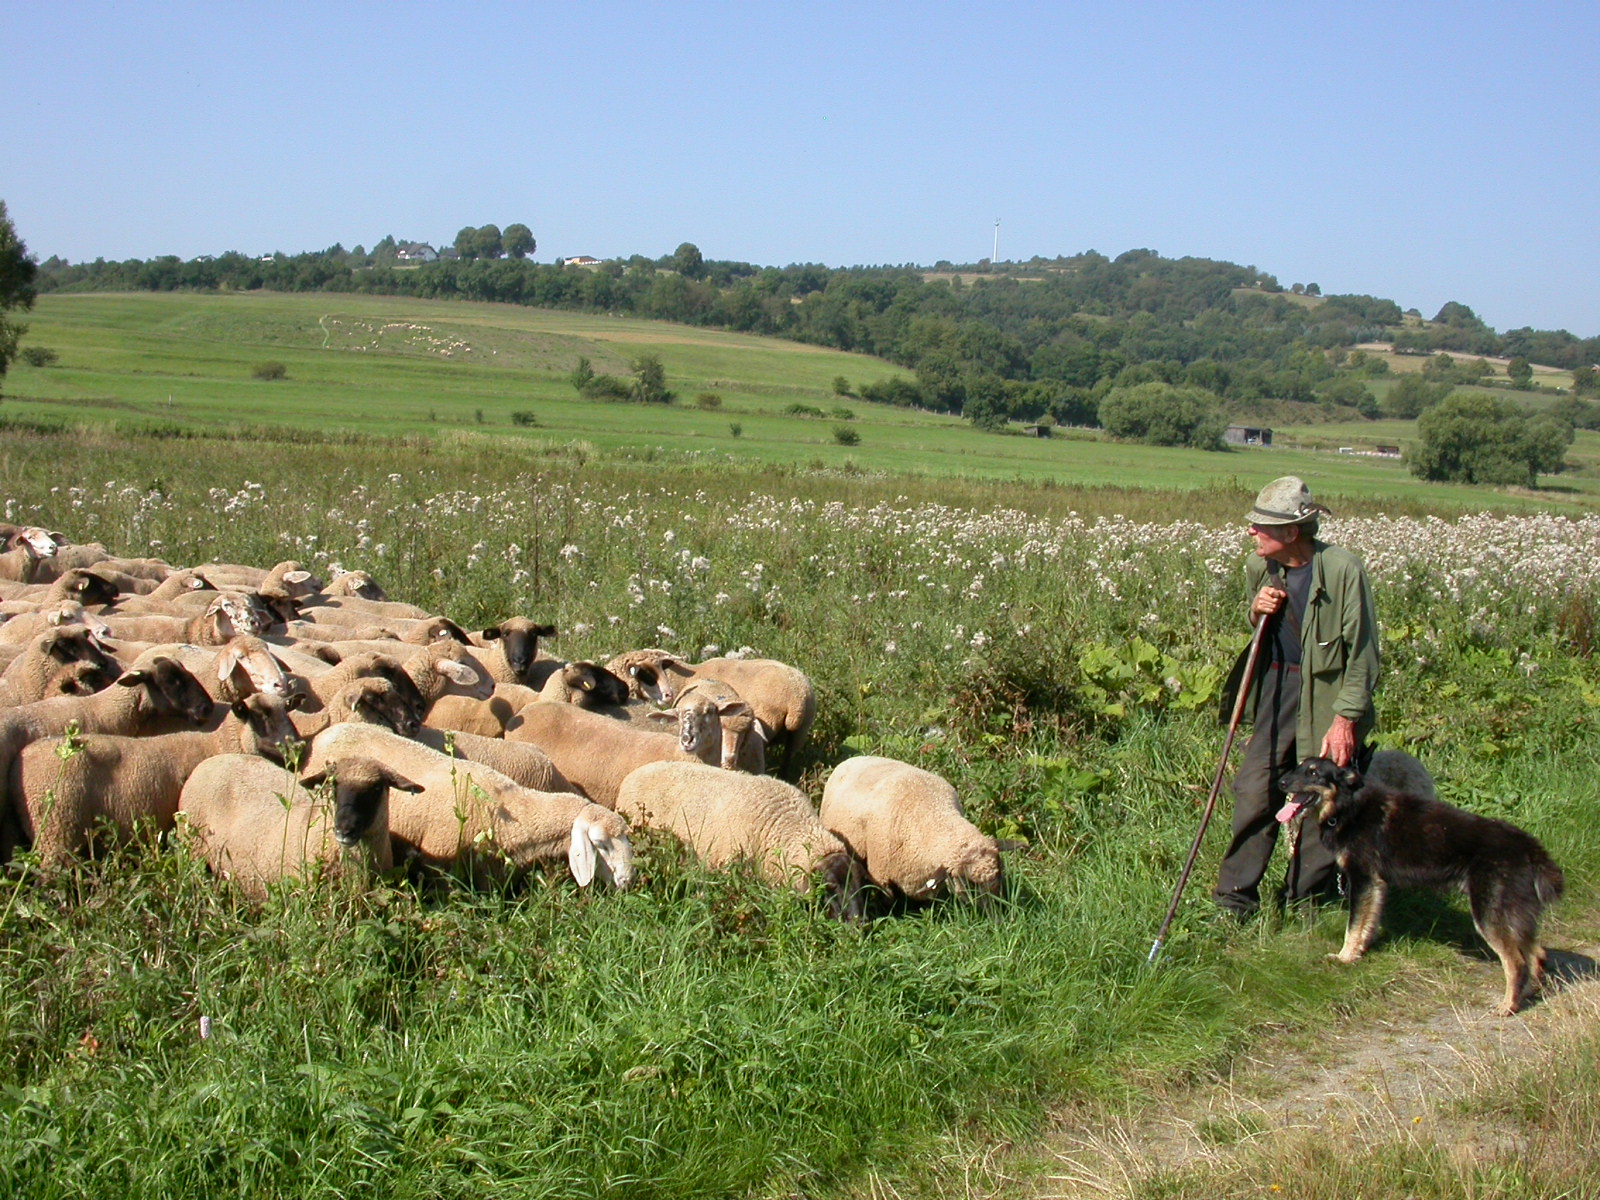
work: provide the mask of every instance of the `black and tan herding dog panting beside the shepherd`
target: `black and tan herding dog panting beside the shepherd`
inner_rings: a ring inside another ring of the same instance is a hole
[[[1510,1016],[1544,976],[1539,912],[1562,898],[1562,869],[1517,826],[1464,813],[1442,800],[1363,781],[1331,758],[1307,758],[1278,781],[1288,822],[1315,805],[1322,840],[1349,882],[1350,923],[1336,955],[1354,963],[1378,936],[1389,886],[1461,888],[1472,923],[1506,968]]]

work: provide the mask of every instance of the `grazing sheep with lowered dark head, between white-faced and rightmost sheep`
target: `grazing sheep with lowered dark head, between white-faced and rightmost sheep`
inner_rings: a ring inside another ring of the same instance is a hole
[[[805,792],[782,779],[704,763],[645,763],[622,781],[616,810],[672,834],[712,869],[754,859],[765,880],[800,891],[821,872],[829,910],[846,920],[861,915],[861,866]]]

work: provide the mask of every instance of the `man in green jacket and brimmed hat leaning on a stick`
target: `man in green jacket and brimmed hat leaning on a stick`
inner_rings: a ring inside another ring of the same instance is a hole
[[[1234,840],[1213,899],[1248,915],[1261,904],[1261,878],[1278,840],[1278,779],[1301,758],[1320,755],[1365,766],[1378,685],[1378,613],[1362,560],[1317,539],[1326,514],[1294,475],[1272,480],[1246,514],[1256,557],[1246,566],[1251,621],[1269,621],[1245,712],[1254,731],[1234,776]],[[1283,899],[1338,890],[1333,854],[1315,827],[1299,838]]]

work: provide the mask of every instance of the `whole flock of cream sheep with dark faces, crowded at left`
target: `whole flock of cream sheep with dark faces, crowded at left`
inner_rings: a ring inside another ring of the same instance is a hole
[[[842,917],[869,896],[1002,888],[1000,850],[939,776],[858,757],[821,805],[794,778],[816,715],[773,659],[605,666],[550,626],[469,635],[362,571],[176,568],[0,525],[0,862],[58,869],[96,837],[181,830],[246,894],[314,872],[491,880],[563,854],[627,886],[629,829],[738,859]]]

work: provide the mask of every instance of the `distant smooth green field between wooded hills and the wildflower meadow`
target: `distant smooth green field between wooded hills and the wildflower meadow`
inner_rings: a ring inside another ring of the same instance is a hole
[[[994,435],[944,414],[834,395],[902,373],[864,355],[661,322],[501,304],[301,294],[43,296],[29,344],[58,350],[50,368],[18,363],[0,414],[115,422],[123,429],[301,435],[490,434],[538,453],[667,454],[738,462],[966,480],[1032,480],[1070,488],[1195,491],[1299,474],[1318,494],[1366,510],[1590,507],[1600,504],[1600,435],[1579,434],[1574,470],[1536,496],[1414,480],[1397,459],[1338,454],[1341,445],[1405,445],[1411,422],[1296,426],[1269,450],[1195,453],[1120,445],[1093,430],[1048,440]],[[579,357],[626,373],[661,357],[670,406],[597,403],[566,381]],[[262,362],[288,378],[254,379]],[[694,405],[701,392],[717,410]],[[827,418],[790,416],[803,403]],[[835,442],[842,406],[859,445]],[[536,426],[517,426],[514,413]],[[733,434],[733,426],[739,434]],[[1334,451],[1334,453],[1330,453]]]

